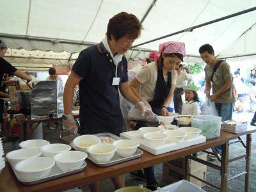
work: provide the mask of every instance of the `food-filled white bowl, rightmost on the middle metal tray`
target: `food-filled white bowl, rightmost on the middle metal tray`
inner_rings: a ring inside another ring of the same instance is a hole
[[[136,152],[140,143],[134,140],[117,140],[113,145],[117,148],[116,154],[121,157],[130,157]]]

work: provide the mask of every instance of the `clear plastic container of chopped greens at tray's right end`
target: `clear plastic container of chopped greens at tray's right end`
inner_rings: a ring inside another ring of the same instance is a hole
[[[206,140],[220,138],[221,117],[214,115],[199,115],[192,118],[192,127],[201,129]]]

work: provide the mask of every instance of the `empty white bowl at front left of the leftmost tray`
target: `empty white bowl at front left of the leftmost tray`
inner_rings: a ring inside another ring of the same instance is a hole
[[[49,157],[35,157],[20,161],[15,165],[17,175],[22,181],[33,181],[46,177],[55,161]]]

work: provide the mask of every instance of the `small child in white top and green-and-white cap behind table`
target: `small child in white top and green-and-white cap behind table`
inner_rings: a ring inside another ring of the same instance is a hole
[[[200,115],[200,107],[198,105],[197,87],[195,84],[184,86],[186,103],[182,106],[182,115]]]

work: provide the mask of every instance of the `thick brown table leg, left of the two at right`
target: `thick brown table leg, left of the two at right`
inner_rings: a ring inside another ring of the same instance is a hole
[[[227,170],[228,170],[228,141],[221,145],[222,147],[222,154],[221,154],[221,184],[220,184],[220,191],[226,192],[227,191]]]

